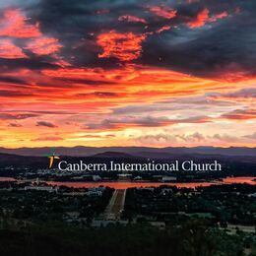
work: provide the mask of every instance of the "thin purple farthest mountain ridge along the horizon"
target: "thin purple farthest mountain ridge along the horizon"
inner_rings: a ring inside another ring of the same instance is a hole
[[[0,148],[0,153],[12,154],[19,156],[42,157],[51,154],[53,151],[50,147],[45,148],[19,148],[6,149]],[[107,153],[107,154],[106,154]],[[122,157],[122,154],[130,155],[131,157],[165,159],[175,155],[221,155],[230,157],[256,157],[256,148],[245,147],[195,147],[195,148],[148,148],[148,147],[56,147],[54,154],[57,156],[69,157],[91,157],[97,156],[101,158]]]

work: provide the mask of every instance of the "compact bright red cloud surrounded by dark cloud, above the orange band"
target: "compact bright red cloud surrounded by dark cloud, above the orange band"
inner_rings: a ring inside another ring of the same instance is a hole
[[[103,52],[99,58],[114,57],[121,61],[131,61],[140,57],[142,52],[141,43],[146,35],[138,35],[133,32],[119,33],[115,31],[101,33],[97,36],[97,44]]]

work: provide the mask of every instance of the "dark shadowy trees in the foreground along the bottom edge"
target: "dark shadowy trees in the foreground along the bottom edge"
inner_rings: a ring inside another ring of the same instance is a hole
[[[188,222],[164,230],[147,224],[96,229],[45,224],[24,230],[0,230],[3,256],[241,256],[244,249],[242,234],[227,235],[207,222]]]

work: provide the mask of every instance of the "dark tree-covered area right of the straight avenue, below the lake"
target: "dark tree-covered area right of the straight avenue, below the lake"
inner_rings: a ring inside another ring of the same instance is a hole
[[[215,185],[196,191],[176,187],[164,189],[164,186],[154,190],[133,188],[126,194],[124,216],[131,219],[143,215],[178,224],[180,220],[197,214],[215,223],[252,225],[256,224],[254,193],[256,187],[246,184]],[[173,217],[173,214],[179,216]]]

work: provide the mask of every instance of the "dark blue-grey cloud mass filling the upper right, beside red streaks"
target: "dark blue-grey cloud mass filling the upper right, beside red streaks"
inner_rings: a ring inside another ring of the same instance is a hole
[[[193,31],[181,27],[149,37],[144,43],[143,62],[203,77],[240,70],[255,74],[256,4],[246,2],[250,3],[201,1],[197,4],[201,8],[216,14],[225,11],[229,17],[211,24],[211,28]],[[238,7],[240,13],[236,14]]]

